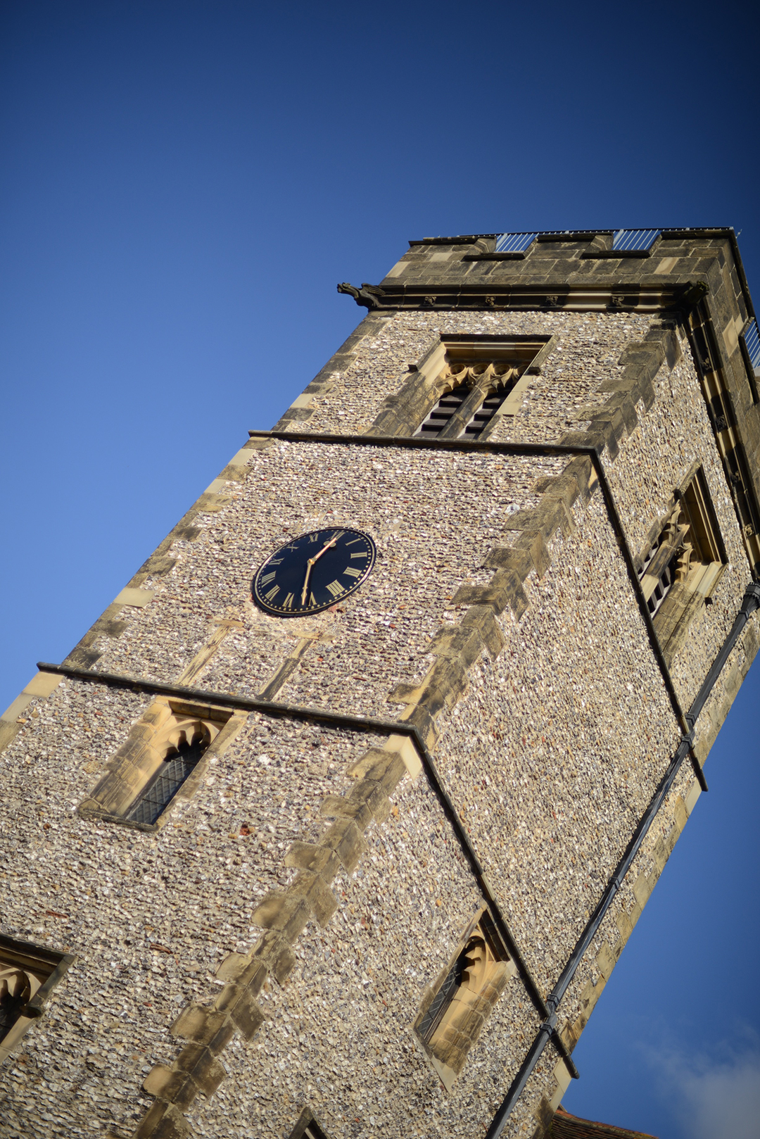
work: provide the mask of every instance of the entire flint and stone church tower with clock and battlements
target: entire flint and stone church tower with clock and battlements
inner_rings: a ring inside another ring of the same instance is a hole
[[[0,721],[0,1136],[542,1134],[758,647],[732,230],[430,238]],[[253,592],[252,592],[253,590]]]

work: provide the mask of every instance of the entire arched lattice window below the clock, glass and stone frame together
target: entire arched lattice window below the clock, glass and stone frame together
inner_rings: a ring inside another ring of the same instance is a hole
[[[209,749],[226,746],[230,720],[231,713],[223,708],[156,699],[111,761],[111,770],[80,805],[80,813],[138,827],[162,826],[178,796],[187,797],[197,784]]]

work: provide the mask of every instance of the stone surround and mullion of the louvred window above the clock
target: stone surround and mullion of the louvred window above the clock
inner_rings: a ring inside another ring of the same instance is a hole
[[[440,437],[461,435],[483,401],[509,378],[506,398],[479,435],[483,441],[501,416],[517,413],[531,376],[540,372],[555,344],[554,336],[444,333],[422,360],[408,366],[407,378],[400,390],[383,402],[367,434],[411,437],[439,400],[461,383],[459,376],[465,370],[472,392]],[[516,380],[513,368],[518,374]]]

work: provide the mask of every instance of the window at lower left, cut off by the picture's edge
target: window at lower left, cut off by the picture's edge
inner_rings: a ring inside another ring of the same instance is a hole
[[[16,1048],[74,958],[0,936],[0,1064]]]

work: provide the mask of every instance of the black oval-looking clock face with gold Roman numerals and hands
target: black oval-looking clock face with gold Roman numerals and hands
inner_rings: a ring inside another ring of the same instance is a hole
[[[320,613],[353,593],[375,565],[375,543],[360,530],[311,530],[256,570],[251,592],[278,617]]]

